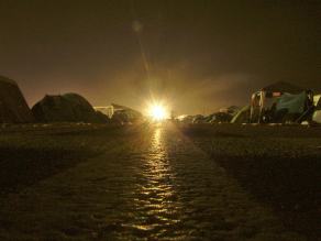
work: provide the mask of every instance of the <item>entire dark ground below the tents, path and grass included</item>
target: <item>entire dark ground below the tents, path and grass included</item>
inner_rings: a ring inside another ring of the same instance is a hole
[[[321,130],[12,127],[0,240],[318,240]]]

